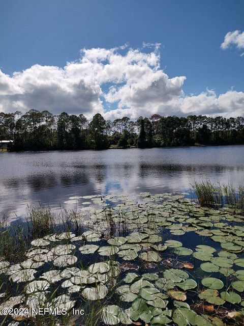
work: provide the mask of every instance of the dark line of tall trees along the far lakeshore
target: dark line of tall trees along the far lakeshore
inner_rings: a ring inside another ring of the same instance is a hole
[[[244,144],[244,118],[191,115],[188,117],[128,117],[113,122],[96,114],[58,116],[48,111],[0,113],[0,140],[13,140],[9,150],[80,150],[128,147]]]

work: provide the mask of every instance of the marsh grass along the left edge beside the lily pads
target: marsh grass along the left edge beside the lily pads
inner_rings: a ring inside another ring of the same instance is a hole
[[[0,257],[11,263],[25,258],[33,239],[52,233],[83,232],[82,217],[76,210],[60,210],[57,214],[50,207],[41,205],[28,207],[25,221],[10,223],[6,216],[0,220]]]

